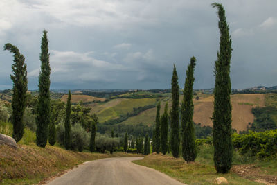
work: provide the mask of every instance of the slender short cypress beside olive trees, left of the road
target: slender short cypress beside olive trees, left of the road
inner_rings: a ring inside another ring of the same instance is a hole
[[[69,90],[69,96],[67,98],[67,104],[66,104],[66,117],[64,121],[64,146],[66,150],[69,150],[69,148],[71,148],[70,114],[71,114],[71,91]]]

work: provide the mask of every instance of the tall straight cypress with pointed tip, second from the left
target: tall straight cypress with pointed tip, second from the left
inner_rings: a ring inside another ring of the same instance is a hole
[[[37,146],[45,147],[48,139],[48,125],[50,123],[50,73],[47,31],[44,30],[40,53],[41,69],[39,73],[39,98],[37,106]]]

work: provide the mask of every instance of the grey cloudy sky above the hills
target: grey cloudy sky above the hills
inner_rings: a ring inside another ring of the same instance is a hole
[[[26,58],[37,89],[42,31],[48,31],[51,89],[170,88],[173,64],[184,87],[197,58],[195,89],[214,85],[219,47],[210,0],[1,0],[0,46]],[[217,1],[233,39],[233,88],[277,85],[277,1]],[[12,53],[0,49],[0,89],[12,87]]]

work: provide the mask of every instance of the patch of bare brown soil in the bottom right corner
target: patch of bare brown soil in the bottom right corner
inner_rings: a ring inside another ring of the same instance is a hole
[[[260,168],[253,164],[234,165],[231,168],[231,172],[236,173],[240,177],[251,179],[263,184],[277,184],[277,176],[262,174]]]

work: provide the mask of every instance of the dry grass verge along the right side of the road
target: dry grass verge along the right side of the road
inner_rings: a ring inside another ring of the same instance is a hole
[[[217,177],[225,177],[229,184],[260,184],[240,177],[235,173],[217,174],[213,166],[203,164],[200,161],[187,164],[184,159],[175,159],[167,155],[152,154],[146,156],[143,160],[133,162],[159,170],[186,184],[215,184]]]

